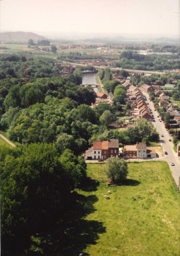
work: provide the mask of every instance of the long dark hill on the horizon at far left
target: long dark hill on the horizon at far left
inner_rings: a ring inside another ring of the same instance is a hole
[[[20,43],[28,43],[28,40],[32,39],[34,42],[38,40],[47,40],[44,36],[39,36],[35,33],[31,32],[3,32],[0,33],[1,42],[20,42]]]

